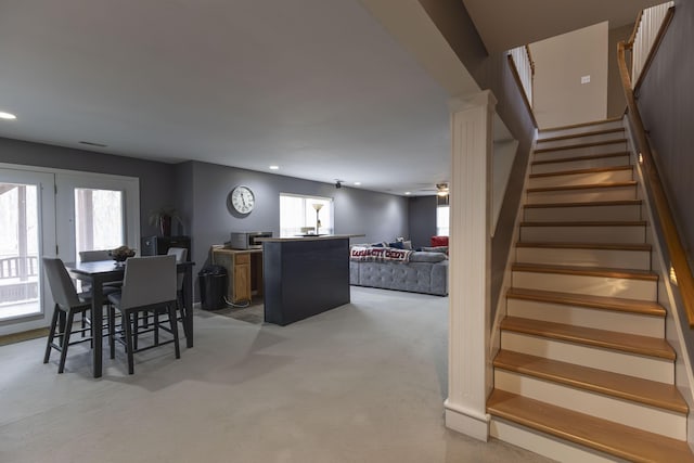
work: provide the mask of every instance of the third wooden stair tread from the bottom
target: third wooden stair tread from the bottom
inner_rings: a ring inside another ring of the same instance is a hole
[[[672,346],[670,346],[667,340],[658,337],[545,322],[542,320],[530,320],[519,317],[505,317],[501,321],[501,330],[584,344],[604,349],[620,350],[646,357],[656,357],[665,360],[674,361],[676,359]]]

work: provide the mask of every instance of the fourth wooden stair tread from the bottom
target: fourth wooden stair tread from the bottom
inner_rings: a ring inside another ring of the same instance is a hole
[[[644,316],[665,317],[666,310],[658,303],[624,297],[594,296],[592,294],[560,293],[554,291],[527,290],[512,287],[506,292],[512,299],[535,300],[593,309],[632,312]]]

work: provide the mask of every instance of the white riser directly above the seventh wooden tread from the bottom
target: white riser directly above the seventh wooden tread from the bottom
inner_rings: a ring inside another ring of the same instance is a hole
[[[641,220],[640,205],[617,206],[573,206],[562,207],[526,207],[524,220],[528,222],[561,222],[561,221],[633,221]]]

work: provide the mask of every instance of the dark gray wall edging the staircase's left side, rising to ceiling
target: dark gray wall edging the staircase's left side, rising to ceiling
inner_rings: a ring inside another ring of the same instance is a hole
[[[518,140],[499,220],[491,244],[492,317],[500,297],[504,271],[513,237],[513,226],[520,206],[530,147],[535,140],[535,124],[525,106],[520,90],[511,73],[505,53],[489,55],[475,25],[460,0],[420,0],[461,62],[481,89],[497,98],[497,114],[513,137]],[[455,284],[455,282],[451,282]]]

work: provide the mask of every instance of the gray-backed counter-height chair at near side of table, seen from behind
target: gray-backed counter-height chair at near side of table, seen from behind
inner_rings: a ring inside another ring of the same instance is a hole
[[[115,358],[115,343],[123,344],[128,357],[128,373],[134,372],[134,352],[153,347],[174,344],[176,358],[181,357],[178,323],[176,322],[176,256],[131,257],[126,261],[126,271],[120,293],[108,295],[108,346],[111,358]],[[115,331],[115,312],[123,316],[123,333]],[[138,348],[138,314],[165,310],[169,316],[169,326],[154,318],[154,342]],[[171,334],[172,339],[159,342],[159,331]]]

